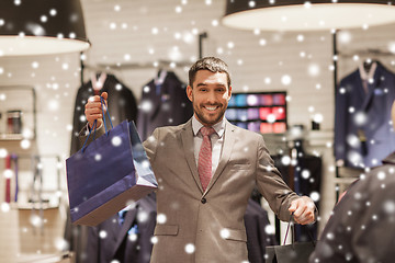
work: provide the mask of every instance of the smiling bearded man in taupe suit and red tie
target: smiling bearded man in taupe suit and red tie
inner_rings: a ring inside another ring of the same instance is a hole
[[[187,94],[193,117],[157,128],[144,142],[159,184],[158,218],[166,218],[155,229],[151,262],[247,262],[242,218],[255,185],[281,220],[294,213],[296,222],[313,222],[313,201],[283,182],[262,136],[224,118],[232,95],[227,65],[214,57],[196,61]],[[90,127],[102,117],[99,96],[87,103],[86,116]]]

